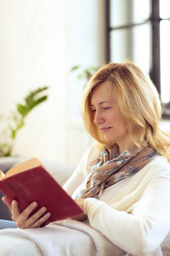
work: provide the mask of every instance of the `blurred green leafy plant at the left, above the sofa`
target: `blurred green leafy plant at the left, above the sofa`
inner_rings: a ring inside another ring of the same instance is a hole
[[[16,132],[18,132],[18,130],[24,125],[24,119],[29,112],[35,108],[35,106],[38,106],[41,102],[47,99],[47,95],[41,95],[41,93],[47,89],[48,86],[45,86],[30,92],[30,94],[24,99],[24,104],[17,104],[16,111],[12,112],[10,117],[0,116],[0,157],[11,155]]]

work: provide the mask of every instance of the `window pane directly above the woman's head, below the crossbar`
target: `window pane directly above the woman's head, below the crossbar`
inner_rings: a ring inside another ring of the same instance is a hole
[[[149,74],[150,71],[150,24],[128,29],[115,29],[110,33],[110,61],[130,60]]]

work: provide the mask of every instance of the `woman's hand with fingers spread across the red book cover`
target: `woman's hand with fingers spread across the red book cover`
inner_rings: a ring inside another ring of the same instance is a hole
[[[37,202],[32,202],[29,204],[22,213],[20,213],[18,208],[18,203],[16,200],[13,200],[12,202],[7,198],[7,196],[4,196],[2,198],[2,201],[9,207],[11,213],[12,213],[12,220],[15,221],[15,224],[20,229],[30,229],[30,228],[36,228],[40,227],[44,221],[48,220],[51,213],[47,212],[44,216],[42,214],[45,213],[46,207],[42,207],[40,210],[38,210],[36,213],[34,213],[31,217],[29,217],[30,213],[37,207]],[[41,217],[42,216],[42,217]]]

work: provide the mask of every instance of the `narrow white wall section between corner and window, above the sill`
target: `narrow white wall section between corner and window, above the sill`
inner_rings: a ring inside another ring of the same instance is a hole
[[[84,80],[78,80],[77,75],[86,67],[98,67],[106,61],[104,2],[67,0],[68,66],[81,67],[77,72],[68,73],[69,115],[72,117],[79,116],[79,95],[86,83]]]

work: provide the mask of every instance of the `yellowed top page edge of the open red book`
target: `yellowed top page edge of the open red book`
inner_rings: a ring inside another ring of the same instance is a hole
[[[27,171],[29,169],[35,168],[37,166],[43,166],[43,164],[38,160],[38,158],[33,157],[25,162],[22,162],[20,164],[17,164],[16,166],[12,167],[7,173],[5,173],[4,178],[12,176],[16,173],[21,173],[23,171]],[[43,166],[44,169],[46,169]],[[3,177],[2,177],[3,178]]]

